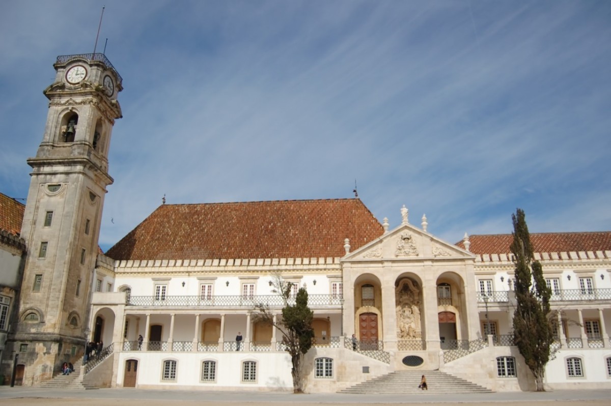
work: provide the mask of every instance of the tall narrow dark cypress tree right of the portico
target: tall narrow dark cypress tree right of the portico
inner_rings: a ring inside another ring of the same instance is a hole
[[[546,285],[541,263],[535,261],[524,211],[517,209],[516,214],[511,215],[511,219],[513,220],[511,253],[516,265],[514,344],[518,346],[525,363],[535,376],[536,390],[544,391],[545,366],[550,359],[551,344],[554,341],[552,324],[548,319],[552,290]]]

